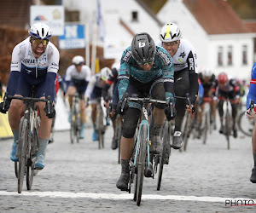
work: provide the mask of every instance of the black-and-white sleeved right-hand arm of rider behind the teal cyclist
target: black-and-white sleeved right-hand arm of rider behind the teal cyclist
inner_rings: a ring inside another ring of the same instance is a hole
[[[190,50],[187,63],[189,67],[189,93],[191,97],[191,102],[195,105],[196,96],[198,94],[198,69],[197,69],[197,59],[196,54],[193,49]]]

